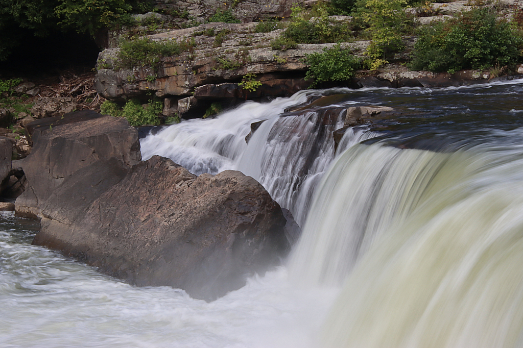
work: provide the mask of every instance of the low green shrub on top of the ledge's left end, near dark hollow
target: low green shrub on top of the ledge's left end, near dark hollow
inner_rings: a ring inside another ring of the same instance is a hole
[[[184,43],[184,50],[190,46],[189,43]],[[157,42],[149,38],[123,41],[118,53],[118,67],[151,66],[156,69],[163,57],[177,55],[181,51],[183,50],[180,48],[180,44],[173,41]]]

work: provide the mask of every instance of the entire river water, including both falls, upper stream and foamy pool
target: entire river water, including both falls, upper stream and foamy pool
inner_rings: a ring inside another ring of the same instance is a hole
[[[401,114],[335,156],[324,107],[283,112],[322,94]],[[244,171],[288,207],[303,234],[285,265],[206,303],[31,246],[38,226],[2,213],[0,347],[521,347],[522,95],[523,80],[302,91],[150,135],[145,159]]]

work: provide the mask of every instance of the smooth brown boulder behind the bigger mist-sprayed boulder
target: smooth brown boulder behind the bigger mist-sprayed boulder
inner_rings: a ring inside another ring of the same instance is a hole
[[[77,111],[63,118],[30,123],[33,150],[23,169],[27,188],[16,200],[16,213],[37,217],[39,202],[78,169],[115,157],[131,167],[141,159],[138,132],[124,119]]]

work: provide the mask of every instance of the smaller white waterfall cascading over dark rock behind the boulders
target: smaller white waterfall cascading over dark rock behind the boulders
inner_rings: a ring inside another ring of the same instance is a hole
[[[142,140],[142,157],[168,157],[196,175],[240,170],[264,185],[301,225],[314,188],[334,158],[332,132],[343,127],[344,112],[354,103],[297,108],[321,92],[302,91],[265,104],[246,102],[215,119],[169,126]],[[298,110],[286,112],[291,107]],[[260,121],[247,143],[251,124]],[[365,127],[349,129],[340,146],[350,147],[371,136],[374,133]]]

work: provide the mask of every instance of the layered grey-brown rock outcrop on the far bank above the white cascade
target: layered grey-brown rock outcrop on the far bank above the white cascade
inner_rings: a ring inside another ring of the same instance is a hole
[[[335,44],[299,44],[294,50],[276,51],[270,48],[270,43],[283,30],[256,33],[256,25],[253,22],[209,23],[152,34],[149,38],[155,41],[195,40],[194,50],[165,57],[157,72],[152,67],[118,69],[119,49],[107,49],[98,57],[95,88],[105,98],[117,101],[154,91],[156,96],[166,98],[164,110],[167,114],[178,112],[183,115],[190,108],[201,110],[201,105],[206,106],[209,100],[264,100],[266,97],[290,96],[309,87],[311,81],[303,79],[305,54],[321,52]],[[225,33],[222,42],[217,43],[215,36],[204,34],[211,29],[215,35]],[[368,41],[358,41],[342,43],[342,46],[362,55],[368,44]],[[252,92],[238,86],[248,73],[256,74],[256,79],[262,83]],[[150,76],[156,78],[151,80]]]

